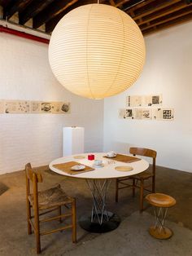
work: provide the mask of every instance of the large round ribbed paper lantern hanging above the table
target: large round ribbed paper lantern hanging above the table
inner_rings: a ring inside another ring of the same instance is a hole
[[[103,99],[137,80],[145,43],[137,24],[124,11],[104,4],[77,7],[56,25],[49,46],[50,67],[76,95]]]

